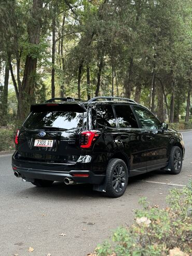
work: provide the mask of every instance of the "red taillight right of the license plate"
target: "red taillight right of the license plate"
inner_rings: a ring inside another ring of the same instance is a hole
[[[88,149],[98,136],[100,136],[100,132],[98,131],[82,131],[80,133],[80,147]]]

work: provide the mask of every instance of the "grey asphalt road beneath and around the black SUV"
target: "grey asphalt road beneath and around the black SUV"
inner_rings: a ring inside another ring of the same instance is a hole
[[[0,254],[87,255],[114,228],[133,222],[141,196],[165,206],[170,188],[186,185],[192,174],[192,132],[183,137],[186,153],[179,175],[156,171],[132,178],[120,198],[104,197],[90,185],[35,187],[13,176],[10,155],[0,156]],[[34,251],[28,252],[29,247]]]

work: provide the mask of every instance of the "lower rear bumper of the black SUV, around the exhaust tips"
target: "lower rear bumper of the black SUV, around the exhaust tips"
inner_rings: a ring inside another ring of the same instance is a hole
[[[35,179],[41,180],[52,180],[52,181],[64,181],[64,178],[70,178],[75,183],[91,183],[91,184],[101,184],[105,179],[105,175],[94,174],[89,170],[71,170],[69,172],[61,171],[49,171],[49,170],[37,170],[31,168],[21,168],[13,165],[14,171],[21,174],[21,178],[26,181],[34,181]],[[86,174],[88,177],[75,177],[75,174]]]

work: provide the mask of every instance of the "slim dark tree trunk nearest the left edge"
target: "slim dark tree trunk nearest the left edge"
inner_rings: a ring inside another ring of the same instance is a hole
[[[9,84],[9,63],[5,65],[5,79],[4,79],[4,89],[3,89],[3,116],[1,125],[7,126],[7,109],[8,109],[8,84]]]

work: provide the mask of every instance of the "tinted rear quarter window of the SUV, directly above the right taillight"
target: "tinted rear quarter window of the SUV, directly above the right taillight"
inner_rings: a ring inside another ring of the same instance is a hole
[[[115,116],[111,105],[97,107],[97,126],[116,127]]]

